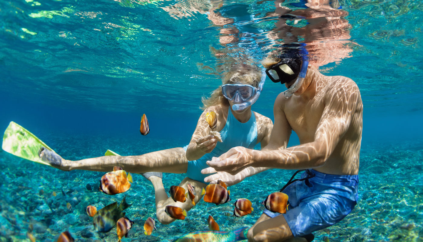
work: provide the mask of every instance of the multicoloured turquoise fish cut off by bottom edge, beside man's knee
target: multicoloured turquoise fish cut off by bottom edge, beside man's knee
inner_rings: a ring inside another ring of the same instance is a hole
[[[247,239],[249,227],[242,227],[235,231],[195,231],[185,234],[173,242],[235,242]]]

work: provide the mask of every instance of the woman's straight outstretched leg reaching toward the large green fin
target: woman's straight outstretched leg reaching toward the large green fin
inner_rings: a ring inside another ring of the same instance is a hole
[[[44,154],[40,152],[41,159],[43,159],[43,155]],[[177,147],[167,150],[158,150],[140,156],[100,156],[79,161],[61,159],[60,165],[56,164],[55,167],[61,170],[110,172],[113,171],[114,166],[119,166],[126,172],[132,173],[152,171],[184,173],[187,172],[187,163],[188,160],[185,156],[184,148]]]

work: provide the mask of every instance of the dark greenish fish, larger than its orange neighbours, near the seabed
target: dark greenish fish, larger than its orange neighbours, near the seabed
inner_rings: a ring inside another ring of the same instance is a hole
[[[110,231],[113,227],[115,227],[116,222],[118,222],[121,217],[125,217],[125,213],[123,211],[131,205],[132,204],[126,203],[126,197],[124,197],[119,206],[118,203],[115,202],[100,209],[93,217],[94,229],[97,232]]]

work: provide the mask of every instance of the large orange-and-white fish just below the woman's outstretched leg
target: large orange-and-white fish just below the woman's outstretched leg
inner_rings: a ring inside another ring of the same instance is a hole
[[[108,195],[126,192],[131,187],[132,175],[124,170],[115,170],[104,174],[100,180],[99,191]]]

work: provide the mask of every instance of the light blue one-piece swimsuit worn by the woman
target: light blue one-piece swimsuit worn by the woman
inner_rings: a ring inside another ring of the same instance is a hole
[[[229,149],[242,146],[253,149],[257,144],[257,123],[255,122],[255,115],[251,112],[250,119],[245,122],[239,122],[228,108],[228,119],[225,127],[220,131],[223,142],[217,142],[216,147],[210,152],[195,161],[188,161],[187,177],[192,180],[204,182],[204,178],[211,174],[201,174],[201,170],[209,167],[206,162],[211,161],[211,157],[219,157]],[[187,151],[187,146],[184,150]]]

